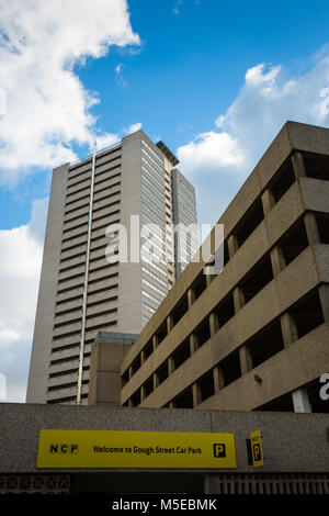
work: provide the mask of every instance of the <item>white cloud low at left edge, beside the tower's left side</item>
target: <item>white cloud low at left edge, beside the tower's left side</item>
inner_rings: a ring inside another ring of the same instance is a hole
[[[0,373],[10,402],[24,402],[43,254],[47,200],[27,225],[0,231]]]

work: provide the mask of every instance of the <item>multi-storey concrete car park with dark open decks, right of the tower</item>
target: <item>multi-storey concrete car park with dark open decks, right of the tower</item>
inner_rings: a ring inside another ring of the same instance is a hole
[[[328,413],[329,130],[286,123],[218,223],[222,272],[185,268],[125,352],[117,404]],[[102,372],[90,403],[113,392]]]

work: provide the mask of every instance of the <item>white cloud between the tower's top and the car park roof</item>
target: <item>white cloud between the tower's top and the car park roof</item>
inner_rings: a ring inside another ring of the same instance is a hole
[[[248,69],[215,127],[177,149],[183,173],[197,190],[200,222],[219,218],[287,120],[329,124],[328,47],[297,77],[282,65]]]

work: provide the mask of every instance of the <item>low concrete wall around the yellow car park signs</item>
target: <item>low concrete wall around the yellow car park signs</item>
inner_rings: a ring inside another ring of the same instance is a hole
[[[246,439],[251,431],[261,430],[264,465],[257,469],[259,473],[329,472],[329,416],[326,414],[2,403],[0,422],[0,473],[60,472],[60,470],[35,468],[38,433],[42,428],[234,433],[237,469],[227,470],[230,472],[256,471],[248,464]],[[88,469],[61,471],[95,472]],[[106,469],[102,472],[107,471],[113,470]],[[136,473],[143,471],[143,469],[135,470]],[[193,472],[195,473],[195,470]]]

